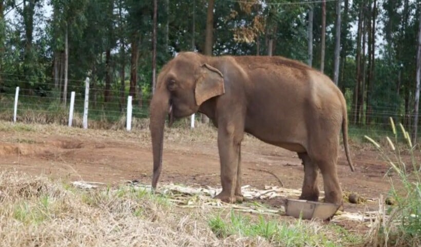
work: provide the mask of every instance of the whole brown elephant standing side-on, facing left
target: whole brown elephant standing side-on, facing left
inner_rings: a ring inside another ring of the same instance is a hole
[[[339,136],[349,166],[346,101],[333,81],[297,60],[282,56],[205,56],[180,52],[158,75],[150,102],[152,189],[162,170],[165,121],[200,112],[217,128],[224,202],[243,201],[241,141],[244,133],[296,152],[304,179],[300,199],[318,201],[322,174],[324,201],[342,204],[336,162]]]

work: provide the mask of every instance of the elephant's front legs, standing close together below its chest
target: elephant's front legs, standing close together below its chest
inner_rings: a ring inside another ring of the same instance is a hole
[[[234,126],[230,127],[231,128],[218,128],[218,150],[221,162],[222,192],[215,198],[232,203],[237,201],[237,199],[242,200],[241,178],[237,179],[242,138],[235,133]]]

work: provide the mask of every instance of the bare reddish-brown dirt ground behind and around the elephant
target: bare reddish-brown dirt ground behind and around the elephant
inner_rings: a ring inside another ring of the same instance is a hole
[[[20,127],[21,128],[21,127]],[[46,174],[65,180],[123,183],[138,179],[150,184],[152,152],[149,131],[82,130],[60,126],[25,126],[23,130],[3,123],[0,128],[0,169]],[[344,192],[356,192],[376,200],[390,190],[386,163],[369,145],[351,143],[356,168],[351,172],[343,146],[339,151],[338,175]],[[167,129],[160,181],[220,187],[216,131]],[[273,174],[271,174],[271,173]],[[303,167],[297,154],[246,136],[242,145],[243,185],[257,188],[279,186],[300,189]],[[275,175],[275,176],[274,176]],[[319,177],[322,190],[322,179]],[[279,200],[279,199],[278,199]],[[279,201],[266,201],[276,206]],[[345,211],[377,210],[376,201],[344,204]]]

